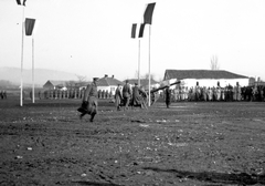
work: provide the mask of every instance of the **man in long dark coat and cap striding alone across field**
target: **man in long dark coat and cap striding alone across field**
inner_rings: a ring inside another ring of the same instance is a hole
[[[91,122],[93,122],[97,114],[97,81],[98,78],[94,78],[93,82],[86,86],[82,105],[77,108],[77,111],[81,112],[81,120],[85,114],[88,114],[91,115]]]

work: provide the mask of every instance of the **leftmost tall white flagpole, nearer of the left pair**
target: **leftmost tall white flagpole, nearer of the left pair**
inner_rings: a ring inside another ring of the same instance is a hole
[[[24,53],[24,6],[22,6],[22,45],[21,45],[21,78],[20,78],[20,106],[23,106],[23,53]]]

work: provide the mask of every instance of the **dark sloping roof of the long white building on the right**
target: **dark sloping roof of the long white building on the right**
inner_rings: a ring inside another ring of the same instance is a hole
[[[163,80],[170,79],[248,79],[223,70],[166,70]]]

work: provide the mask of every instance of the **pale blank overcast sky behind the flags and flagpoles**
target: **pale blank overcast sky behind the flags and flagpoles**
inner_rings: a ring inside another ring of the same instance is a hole
[[[131,24],[157,2],[151,25],[151,73],[220,70],[265,80],[264,0],[26,0],[25,18],[40,21],[35,69],[84,75],[135,78],[138,39]],[[0,0],[0,66],[21,66],[22,6]],[[140,40],[140,72],[148,73],[149,27]],[[31,69],[32,38],[24,37],[24,69]],[[38,75],[38,74],[35,74]]]

